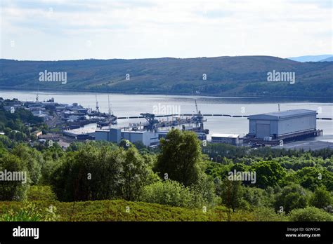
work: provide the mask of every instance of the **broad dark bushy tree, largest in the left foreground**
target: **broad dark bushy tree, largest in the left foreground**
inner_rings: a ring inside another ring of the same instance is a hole
[[[67,156],[51,175],[60,201],[113,199],[122,194],[124,150],[86,144]]]

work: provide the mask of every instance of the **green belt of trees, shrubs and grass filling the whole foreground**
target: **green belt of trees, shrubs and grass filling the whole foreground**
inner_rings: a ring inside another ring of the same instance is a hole
[[[0,182],[0,218],[332,221],[332,150],[202,147],[194,133],[180,130],[171,130],[158,151],[140,147],[0,144],[0,171],[28,175],[27,184]],[[230,179],[230,172],[256,177]]]

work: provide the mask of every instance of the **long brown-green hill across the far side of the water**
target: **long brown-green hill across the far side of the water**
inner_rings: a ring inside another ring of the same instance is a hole
[[[333,94],[333,62],[295,62],[270,56],[67,61],[2,59],[0,67],[0,88],[293,97],[332,97]],[[39,72],[45,70],[67,72],[67,83],[39,81]],[[268,82],[267,73],[273,70],[295,72],[295,83]]]

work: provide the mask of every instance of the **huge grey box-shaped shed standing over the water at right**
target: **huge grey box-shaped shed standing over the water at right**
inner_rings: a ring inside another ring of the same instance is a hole
[[[256,138],[291,137],[316,130],[316,111],[294,109],[249,116],[248,136]]]

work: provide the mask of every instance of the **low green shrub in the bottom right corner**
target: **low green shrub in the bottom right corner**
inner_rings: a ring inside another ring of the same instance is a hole
[[[290,221],[333,221],[332,215],[315,207],[292,210],[289,219]]]

